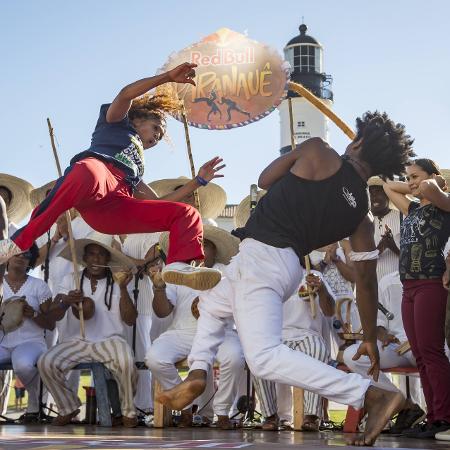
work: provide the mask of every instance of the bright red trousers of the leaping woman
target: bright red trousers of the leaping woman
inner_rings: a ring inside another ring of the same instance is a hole
[[[83,219],[105,234],[170,231],[167,263],[203,259],[203,226],[198,211],[184,203],[139,200],[130,194],[123,172],[95,158],[70,166],[30,222],[12,237],[22,250],[47,232],[56,219],[76,208]]]

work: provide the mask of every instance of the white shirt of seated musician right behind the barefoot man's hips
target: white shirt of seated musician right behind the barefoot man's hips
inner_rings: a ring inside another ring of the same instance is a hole
[[[312,270],[311,273],[322,278],[325,288],[333,300],[335,300],[328,283],[323,280],[322,274],[315,270]],[[299,291],[302,286],[306,287],[306,277],[304,277],[300,283]],[[314,319],[311,315],[311,305],[309,301],[306,300],[309,300],[309,297],[301,297],[299,293],[296,292],[291,298],[284,302],[282,332],[283,340],[301,340],[311,334],[323,336],[325,316],[319,305],[319,296],[314,296],[314,302],[316,303],[316,317]]]

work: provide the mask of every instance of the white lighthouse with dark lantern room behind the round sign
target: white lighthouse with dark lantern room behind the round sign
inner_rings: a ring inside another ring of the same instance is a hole
[[[300,34],[292,38],[284,48],[284,57],[291,65],[291,80],[301,83],[328,106],[333,103],[331,91],[332,78],[323,73],[323,47],[312,36],[306,34],[305,24],[299,27]],[[288,92],[292,98],[294,117],[294,135],[296,144],[311,137],[320,137],[328,141],[328,119],[303,97]],[[279,106],[281,149],[280,153],[291,150],[291,130],[289,123],[288,100]]]

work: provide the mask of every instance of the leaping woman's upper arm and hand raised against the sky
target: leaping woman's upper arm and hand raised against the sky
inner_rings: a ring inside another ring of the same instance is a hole
[[[183,63],[168,72],[154,77],[143,78],[125,86],[111,103],[106,113],[106,121],[109,123],[120,122],[127,115],[133,100],[151,89],[164,83],[189,83],[195,86],[192,79],[195,76],[196,64]]]

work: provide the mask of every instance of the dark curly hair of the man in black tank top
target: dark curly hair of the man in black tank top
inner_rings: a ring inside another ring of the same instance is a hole
[[[405,126],[395,123],[383,112],[367,111],[356,119],[355,141],[362,139],[361,159],[369,164],[372,175],[383,179],[401,175],[410,158],[416,156],[414,139],[405,132]]]

